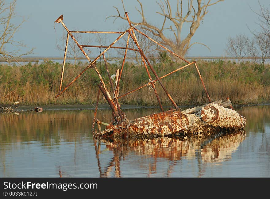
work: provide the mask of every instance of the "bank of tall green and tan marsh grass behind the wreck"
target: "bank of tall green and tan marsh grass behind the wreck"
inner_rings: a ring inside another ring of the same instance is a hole
[[[231,63],[224,60],[197,61],[212,101],[229,96],[233,104],[261,103],[270,100],[270,66],[249,62]],[[114,74],[122,62],[110,64],[110,74]],[[180,65],[170,60],[152,61],[159,76],[175,70]],[[63,85],[67,85],[86,64],[76,66],[66,63]],[[98,61],[98,70],[108,80],[103,63]],[[13,104],[19,101],[24,105],[48,104],[90,104],[95,103],[99,78],[93,69],[88,69],[71,85],[64,94],[58,93],[61,63],[51,60],[42,63],[29,63],[25,66],[0,65],[0,104]],[[150,70],[150,69],[149,69]],[[153,79],[154,75],[151,73]],[[109,82],[104,79],[106,84]],[[125,63],[120,84],[120,95],[133,90],[149,81],[144,66]],[[207,102],[203,86],[194,65],[182,69],[164,79],[164,86],[177,105],[201,105]],[[109,86],[109,85],[108,85]],[[159,83],[157,92],[163,105],[171,105]],[[102,97],[101,102],[106,102]],[[158,105],[154,91],[144,87],[126,97],[120,98],[121,104]]]

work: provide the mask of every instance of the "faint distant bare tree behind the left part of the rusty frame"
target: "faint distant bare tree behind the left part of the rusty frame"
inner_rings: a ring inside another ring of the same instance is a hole
[[[72,35],[81,44],[85,45],[90,44],[90,38],[83,37],[82,33],[72,33]],[[66,40],[67,40],[67,33],[65,30],[63,30],[63,35],[60,39],[60,43],[56,43],[56,48],[59,51],[65,51]],[[91,51],[87,48],[86,53],[87,55],[89,55]],[[71,57],[72,59],[74,59],[74,65],[76,65],[78,59],[84,58],[81,50],[78,48],[77,44],[73,40],[68,41],[67,57]]]

